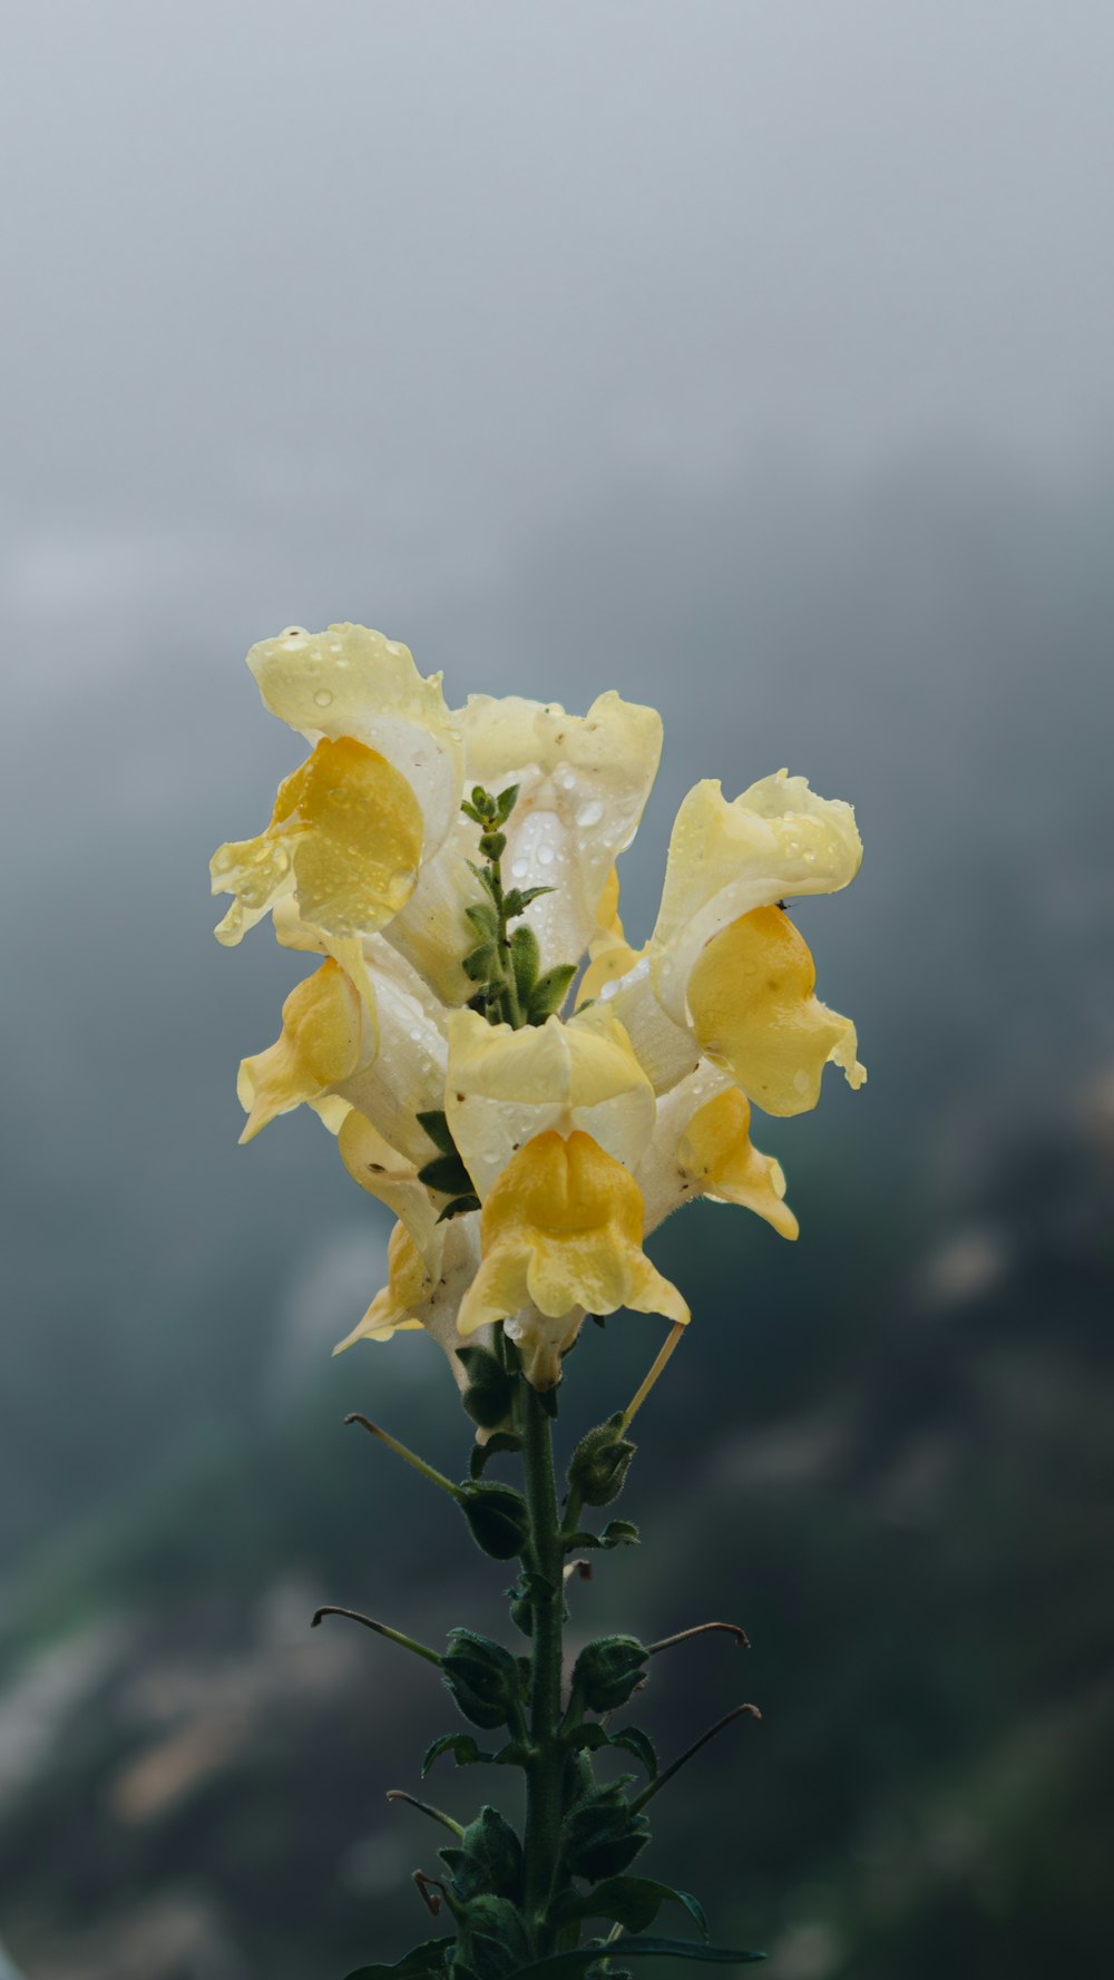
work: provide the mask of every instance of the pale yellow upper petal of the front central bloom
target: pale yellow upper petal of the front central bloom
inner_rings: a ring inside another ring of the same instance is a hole
[[[653,1133],[653,1087],[617,1018],[603,1006],[568,1024],[487,1024],[449,1018],[445,1113],[481,1200],[516,1148],[544,1129],[584,1129],[629,1168]]]

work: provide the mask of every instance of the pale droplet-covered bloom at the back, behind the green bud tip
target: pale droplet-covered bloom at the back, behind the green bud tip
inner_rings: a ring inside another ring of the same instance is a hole
[[[471,695],[455,711],[465,746],[465,784],[518,786],[507,820],[507,887],[552,887],[526,909],[542,968],[576,962],[596,927],[596,903],[615,855],[635,836],[661,756],[661,717],[613,689],[588,715],[558,701]],[[475,826],[461,818],[421,867],[414,899],[390,925],[390,940],[447,1004],[473,992],[461,968],[461,913],[479,899],[467,861]]]

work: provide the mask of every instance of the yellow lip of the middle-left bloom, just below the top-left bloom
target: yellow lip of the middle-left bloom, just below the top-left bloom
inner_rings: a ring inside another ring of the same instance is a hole
[[[323,962],[291,990],[275,1043],[239,1067],[237,1093],[247,1113],[239,1138],[251,1140],[275,1115],[319,1099],[352,1073],[360,1038],[360,998],[336,962]]]

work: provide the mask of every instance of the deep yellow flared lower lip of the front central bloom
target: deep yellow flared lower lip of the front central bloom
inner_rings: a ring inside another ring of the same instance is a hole
[[[481,1216],[483,1263],[465,1293],[461,1335],[509,1323],[536,1388],[560,1378],[560,1354],[582,1315],[689,1307],[643,1251],[643,1200],[631,1172],[590,1135],[552,1129],[509,1162]]]

